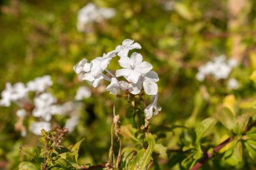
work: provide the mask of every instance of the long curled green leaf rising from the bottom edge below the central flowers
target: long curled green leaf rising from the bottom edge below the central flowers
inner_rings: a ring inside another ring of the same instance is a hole
[[[148,134],[147,136],[148,148],[142,148],[141,151],[135,157],[135,160],[131,163],[129,169],[131,170],[142,170],[147,169],[148,163],[150,163],[151,155],[154,150],[154,146],[156,145],[156,141],[152,134]]]

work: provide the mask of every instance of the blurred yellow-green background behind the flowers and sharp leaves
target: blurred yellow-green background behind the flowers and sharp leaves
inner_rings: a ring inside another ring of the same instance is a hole
[[[72,100],[80,85],[88,85],[78,81],[73,66],[84,57],[91,60],[102,56],[130,38],[141,44],[142,49],[136,52],[152,63],[160,77],[158,102],[162,112],[152,118],[152,130],[183,124],[192,113],[198,121],[212,116],[230,93],[245,101],[256,97],[255,86],[249,80],[256,69],[256,1],[96,0],[93,2],[98,7],[115,8],[115,17],[90,24],[91,32],[77,32],[77,11],[88,2],[0,1],[1,91],[6,82],[27,83],[35,77],[51,75],[51,91],[60,101]],[[221,54],[238,60],[238,67],[230,75],[240,83],[237,90],[228,89],[227,80],[195,79],[199,66]],[[110,70],[118,68],[110,65]],[[66,141],[73,144],[86,138],[81,151],[83,163],[107,160],[111,106],[115,102],[124,119],[123,105],[127,103],[100,89],[85,101],[79,125]],[[20,157],[20,146],[38,144],[37,136],[28,134],[22,138],[20,132],[15,132],[16,110],[14,105],[0,108],[3,169],[15,169],[24,159]],[[193,121],[188,126],[195,126]],[[162,142],[175,148],[179,138],[167,133]]]

